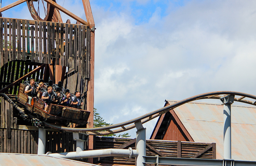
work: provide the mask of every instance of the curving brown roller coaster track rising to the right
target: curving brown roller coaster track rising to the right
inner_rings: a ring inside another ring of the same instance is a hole
[[[138,118],[128,120],[126,122],[118,123],[115,125],[109,125],[109,126],[103,126],[103,127],[93,127],[93,128],[70,128],[70,127],[63,127],[63,126],[59,126],[59,125],[44,122],[44,121],[42,121],[42,123],[44,123],[44,125],[47,127],[51,127],[53,129],[57,129],[57,130],[69,131],[69,132],[81,132],[81,133],[87,132],[87,134],[89,134],[89,135],[115,134],[115,133],[120,133],[123,131],[133,129],[133,128],[135,128],[135,124],[134,124],[135,122],[141,121],[142,123],[146,123],[149,120],[154,119],[154,118],[172,110],[173,108],[181,106],[182,104],[192,102],[195,100],[199,100],[199,99],[220,99],[226,95],[240,96],[239,98],[235,98],[234,101],[242,102],[242,103],[246,103],[246,104],[252,104],[254,106],[256,105],[256,96],[255,95],[245,94],[242,92],[234,92],[234,91],[216,91],[216,92],[208,92],[208,93],[192,96],[192,97],[184,99],[184,100],[180,100],[176,103],[170,104],[169,106],[165,106],[158,110],[149,112],[148,114],[139,116]],[[11,104],[13,104],[14,108],[16,108],[18,111],[24,112],[24,110],[22,108],[18,107],[14,102],[12,102],[12,100],[10,98],[8,98],[8,96],[6,96],[5,94],[0,94],[0,96],[3,96],[5,100],[7,100]],[[254,101],[247,100],[244,98],[253,99]],[[35,118],[31,115],[29,115],[29,116],[30,116],[30,118]],[[127,125],[129,125],[129,126],[127,126]],[[105,130],[105,131],[102,131],[102,130]]]

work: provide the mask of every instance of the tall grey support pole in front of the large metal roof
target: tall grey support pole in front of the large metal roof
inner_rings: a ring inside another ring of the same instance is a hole
[[[234,102],[234,95],[227,95],[221,98],[223,102],[223,145],[224,159],[231,159],[231,104]]]

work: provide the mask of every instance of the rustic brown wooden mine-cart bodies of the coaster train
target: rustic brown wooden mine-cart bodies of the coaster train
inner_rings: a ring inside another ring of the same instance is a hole
[[[88,122],[90,115],[89,111],[82,109],[61,106],[58,104],[50,104],[45,111],[45,102],[41,100],[42,92],[38,91],[37,96],[32,98],[31,104],[28,103],[29,98],[24,93],[26,85],[20,83],[18,102],[26,107],[26,111],[30,114],[36,114],[38,119],[48,121],[51,123],[59,123],[68,125],[69,123],[76,123],[78,125],[85,125]]]

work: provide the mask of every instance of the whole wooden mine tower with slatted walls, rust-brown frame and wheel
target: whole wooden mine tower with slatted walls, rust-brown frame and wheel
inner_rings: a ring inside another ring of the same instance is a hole
[[[61,81],[71,93],[81,93],[83,109],[91,112],[87,127],[93,127],[95,25],[89,0],[81,1],[84,7],[81,12],[85,12],[86,21],[61,7],[56,0],[18,0],[0,8],[0,12],[4,12],[27,3],[33,18],[0,17],[0,93],[15,98],[19,83],[31,77],[36,82],[39,79],[44,82],[52,80],[56,84]],[[38,3],[38,8],[45,7],[44,16],[39,15],[35,3]],[[75,19],[76,23],[71,24],[70,20],[63,23],[60,11]],[[4,121],[10,113],[7,105],[1,104],[1,127],[5,128]],[[12,119],[11,124],[15,126]],[[88,149],[93,149],[92,136],[89,137]]]

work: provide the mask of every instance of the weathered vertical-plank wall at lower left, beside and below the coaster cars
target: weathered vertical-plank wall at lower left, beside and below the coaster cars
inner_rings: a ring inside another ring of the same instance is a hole
[[[16,125],[13,105],[1,97],[0,105],[0,152],[37,154],[38,128],[26,126],[20,129]],[[62,153],[75,151],[76,141],[72,133],[56,131],[46,132],[45,153]]]

